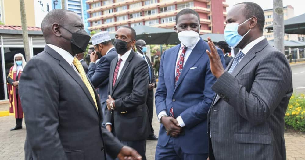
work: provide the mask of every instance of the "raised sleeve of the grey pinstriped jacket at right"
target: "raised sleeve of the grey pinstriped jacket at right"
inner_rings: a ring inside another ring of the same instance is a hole
[[[285,95],[289,88],[290,95]],[[212,89],[221,98],[227,99],[227,103],[240,116],[253,125],[259,125],[271,116],[283,97],[291,96],[292,72],[285,55],[273,51],[255,69],[255,78],[249,92],[228,72],[219,77]]]

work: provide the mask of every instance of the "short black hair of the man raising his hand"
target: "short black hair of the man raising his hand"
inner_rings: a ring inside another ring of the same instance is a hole
[[[264,10],[256,3],[253,2],[242,2],[237,3],[236,5],[243,4],[245,8],[242,11],[242,14],[245,15],[246,19],[251,17],[257,18],[257,25],[260,31],[264,31],[264,24],[265,24],[265,15]]]

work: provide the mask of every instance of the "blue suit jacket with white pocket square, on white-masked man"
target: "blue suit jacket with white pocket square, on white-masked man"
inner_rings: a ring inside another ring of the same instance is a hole
[[[210,70],[210,59],[206,49],[208,44],[200,38],[192,50],[175,86],[175,66],[180,44],[166,50],[159,69],[159,82],[155,94],[156,112],[166,110],[169,115],[173,107],[174,116],[181,116],[185,123],[185,135],[177,137],[184,153],[208,153],[207,113],[215,95],[211,86],[216,81]],[[217,50],[223,66],[224,57]],[[195,69],[191,69],[196,67]],[[166,146],[170,136],[161,124],[158,145]]]

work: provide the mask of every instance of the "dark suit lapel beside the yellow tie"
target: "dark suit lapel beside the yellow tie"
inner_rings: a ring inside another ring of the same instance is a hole
[[[87,97],[89,98],[90,102],[92,103],[95,111],[97,113],[99,113],[95,107],[95,103],[93,101],[93,98],[88,90],[88,88],[86,87],[86,85],[84,84],[83,80],[81,79],[81,77],[75,72],[75,70],[72,68],[72,66],[70,66],[68,64],[68,62],[63,59],[63,57],[61,55],[59,55],[59,53],[57,53],[56,51],[54,51],[52,48],[50,48],[49,46],[45,47],[45,52],[47,52],[49,55],[51,55],[53,58],[58,59],[59,60],[59,65],[77,82],[77,84],[79,84],[81,86],[81,88],[83,89],[83,91],[85,92],[85,94],[87,95]],[[88,77],[87,77],[88,79]],[[90,82],[90,80],[88,79],[88,81]],[[91,84],[91,83],[90,83]],[[92,84],[91,84],[92,87]],[[94,89],[94,88],[93,88]]]

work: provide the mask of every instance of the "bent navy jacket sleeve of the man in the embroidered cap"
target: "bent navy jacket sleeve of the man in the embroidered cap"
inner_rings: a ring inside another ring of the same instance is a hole
[[[106,57],[102,57],[97,66],[90,63],[88,77],[95,88],[109,78],[110,62]]]

